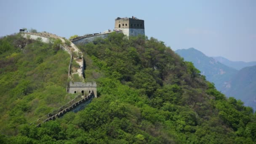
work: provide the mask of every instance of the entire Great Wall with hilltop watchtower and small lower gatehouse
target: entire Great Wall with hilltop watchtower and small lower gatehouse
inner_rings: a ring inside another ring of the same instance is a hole
[[[48,32],[25,32],[24,29],[20,29],[20,33],[24,38],[40,40],[43,43],[54,43],[55,40],[60,39],[61,44],[59,45],[61,49],[67,51],[70,55],[70,62],[68,67],[68,78],[71,80],[67,85],[67,93],[76,93],[77,97],[72,99],[64,106],[60,107],[58,110],[49,113],[36,122],[34,122],[37,127],[41,123],[47,122],[49,120],[55,120],[56,118],[62,117],[67,112],[77,112],[83,109],[87,104],[89,104],[93,97],[97,97],[97,85],[94,82],[84,83],[84,82],[74,82],[73,76],[78,75],[82,81],[85,80],[84,70],[85,70],[85,60],[83,58],[83,53],[77,48],[76,45],[92,43],[97,38],[107,38],[112,32],[122,32],[124,35],[137,36],[145,35],[144,31],[144,20],[132,18],[120,18],[115,19],[115,29],[111,31],[110,29],[101,33],[87,34],[84,36],[76,37],[72,40],[67,40],[63,37],[48,33]],[[70,44],[69,44],[70,43]],[[72,61],[75,61],[79,67],[72,66]],[[88,96],[84,96],[86,93]]]

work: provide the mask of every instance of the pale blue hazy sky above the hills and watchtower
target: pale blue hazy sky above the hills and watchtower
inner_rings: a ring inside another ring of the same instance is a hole
[[[115,18],[131,16],[173,50],[256,61],[256,0],[0,0],[0,36],[26,27],[69,38],[114,29]]]

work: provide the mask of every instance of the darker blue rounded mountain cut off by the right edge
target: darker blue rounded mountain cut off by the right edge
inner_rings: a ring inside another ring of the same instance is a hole
[[[241,99],[246,106],[256,109],[256,66],[241,69],[222,88],[222,92],[227,96]]]

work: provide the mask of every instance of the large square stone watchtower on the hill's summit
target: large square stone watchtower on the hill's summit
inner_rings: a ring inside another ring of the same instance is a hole
[[[144,20],[137,19],[132,16],[132,18],[120,18],[115,19],[115,29],[122,30],[124,35],[137,36],[145,35]]]

